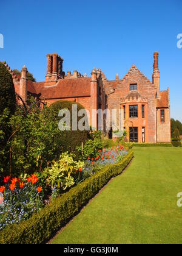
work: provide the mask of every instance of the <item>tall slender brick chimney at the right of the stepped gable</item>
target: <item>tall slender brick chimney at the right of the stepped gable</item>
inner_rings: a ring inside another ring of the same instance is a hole
[[[153,85],[157,89],[157,98],[160,99],[160,71],[158,68],[158,52],[153,54],[154,63],[153,63]]]

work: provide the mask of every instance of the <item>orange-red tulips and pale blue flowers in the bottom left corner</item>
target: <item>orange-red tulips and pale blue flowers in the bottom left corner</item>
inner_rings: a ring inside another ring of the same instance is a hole
[[[26,182],[16,177],[4,177],[0,192],[4,197],[0,205],[0,230],[29,219],[43,207],[42,187],[38,187],[38,177],[35,174],[28,177]]]

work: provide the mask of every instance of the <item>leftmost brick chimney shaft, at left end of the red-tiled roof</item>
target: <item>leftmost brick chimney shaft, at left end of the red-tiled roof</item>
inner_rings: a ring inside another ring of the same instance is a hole
[[[27,83],[28,83],[27,73],[28,73],[28,70],[26,66],[24,66],[21,70],[21,79],[19,83],[19,96],[22,98],[24,102],[27,101]]]

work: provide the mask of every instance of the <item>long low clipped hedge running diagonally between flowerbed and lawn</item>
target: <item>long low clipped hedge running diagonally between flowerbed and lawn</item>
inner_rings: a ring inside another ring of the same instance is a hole
[[[0,244],[40,244],[48,240],[56,230],[65,226],[112,177],[121,174],[132,158],[133,151],[129,151],[121,162],[104,167],[57,198],[52,204],[46,205],[27,221],[2,230]]]

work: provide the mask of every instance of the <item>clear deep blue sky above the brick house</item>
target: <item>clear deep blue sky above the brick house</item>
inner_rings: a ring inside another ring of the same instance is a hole
[[[170,88],[171,116],[182,121],[181,0],[9,0],[0,8],[0,60],[12,69],[26,65],[38,81],[45,78],[45,55],[53,52],[66,72],[90,74],[95,66],[115,79],[135,64],[152,80],[159,51],[161,90]]]

